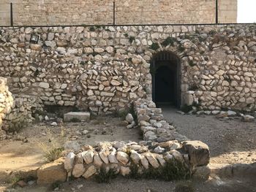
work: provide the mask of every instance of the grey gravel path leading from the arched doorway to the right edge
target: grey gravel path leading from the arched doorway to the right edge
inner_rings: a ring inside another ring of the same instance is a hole
[[[173,122],[180,134],[205,142],[214,164],[251,164],[256,161],[256,123],[240,118],[219,120],[214,115],[181,115],[162,107],[165,119]]]

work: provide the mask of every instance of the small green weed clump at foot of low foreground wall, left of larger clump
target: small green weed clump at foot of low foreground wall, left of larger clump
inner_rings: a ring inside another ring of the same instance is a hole
[[[95,180],[98,183],[110,183],[110,180],[113,180],[117,177],[116,169],[109,169],[108,172],[105,168],[101,167],[99,173],[95,174]]]

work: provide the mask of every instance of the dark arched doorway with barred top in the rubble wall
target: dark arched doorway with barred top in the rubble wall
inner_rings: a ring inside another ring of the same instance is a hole
[[[181,107],[180,68],[180,60],[174,53],[162,51],[152,58],[152,99],[157,105]]]

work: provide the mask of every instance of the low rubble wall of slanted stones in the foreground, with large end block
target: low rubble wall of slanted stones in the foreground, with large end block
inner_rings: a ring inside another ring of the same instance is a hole
[[[113,169],[114,173],[127,176],[131,169],[133,172],[136,169],[137,173],[133,174],[143,175],[149,168],[165,167],[167,162],[175,164],[178,161],[181,167],[187,169],[187,173],[195,166],[206,166],[209,163],[208,146],[199,141],[151,142],[150,145],[142,143],[102,142],[94,147],[86,145],[82,152],[67,155],[64,168],[69,177],[89,179],[94,174],[99,174],[101,168],[105,169],[105,172]],[[178,170],[180,173],[181,167]],[[37,183],[42,184],[43,180],[39,179]]]

